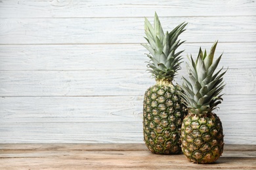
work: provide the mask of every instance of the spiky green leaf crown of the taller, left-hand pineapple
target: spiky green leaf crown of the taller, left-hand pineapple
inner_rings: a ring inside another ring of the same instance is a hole
[[[181,56],[184,51],[175,52],[175,50],[184,42],[178,40],[179,35],[185,31],[186,24],[182,23],[175,27],[170,33],[163,33],[158,14],[155,12],[154,27],[145,18],[144,29],[146,41],[149,44],[142,44],[150,54],[146,54],[150,61],[147,62],[148,71],[156,80],[167,80],[171,82],[177,71],[181,69]]]

